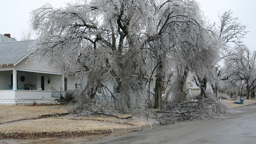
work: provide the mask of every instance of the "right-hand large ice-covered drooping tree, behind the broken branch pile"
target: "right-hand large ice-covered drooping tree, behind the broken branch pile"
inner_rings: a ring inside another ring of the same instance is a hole
[[[184,84],[188,71],[201,73],[203,70],[196,69],[209,69],[218,54],[218,42],[214,34],[206,29],[195,1],[166,1],[160,6],[154,6],[158,14],[155,18],[158,20],[155,23],[156,32],[147,32],[149,41],[146,46],[154,58],[151,62],[154,63],[156,74],[156,108],[161,107],[164,81],[168,79],[164,70],[175,70],[176,80],[175,84],[171,84],[170,92],[183,101],[182,97],[186,97]]]

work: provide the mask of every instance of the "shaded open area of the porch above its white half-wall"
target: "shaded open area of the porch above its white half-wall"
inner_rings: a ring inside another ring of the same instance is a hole
[[[33,71],[0,71],[0,90],[59,90],[64,87],[64,76],[58,73]]]

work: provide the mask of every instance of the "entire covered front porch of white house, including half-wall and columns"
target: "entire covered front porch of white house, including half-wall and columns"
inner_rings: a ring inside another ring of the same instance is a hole
[[[67,82],[60,74],[0,71],[0,105],[50,104],[62,87],[67,87]]]

